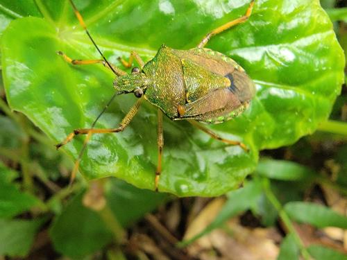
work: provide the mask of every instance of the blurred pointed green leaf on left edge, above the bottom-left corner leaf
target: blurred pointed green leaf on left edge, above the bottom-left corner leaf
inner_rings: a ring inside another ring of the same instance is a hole
[[[40,204],[34,196],[19,191],[11,183],[15,173],[0,164],[0,218],[10,218]]]

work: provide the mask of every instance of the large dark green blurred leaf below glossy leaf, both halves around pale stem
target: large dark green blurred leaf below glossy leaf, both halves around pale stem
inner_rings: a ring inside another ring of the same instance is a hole
[[[82,198],[83,193],[76,196],[50,229],[56,250],[69,257],[83,257],[96,252],[112,239],[110,223],[105,222],[101,212],[83,206]],[[108,179],[105,198],[117,224],[125,227],[161,204],[167,194],[137,189],[124,181]]]

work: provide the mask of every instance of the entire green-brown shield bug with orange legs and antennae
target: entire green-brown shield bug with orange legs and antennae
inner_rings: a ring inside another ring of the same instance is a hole
[[[96,121],[108,107],[106,105],[101,114],[92,123],[91,128],[75,129],[64,141],[56,145],[57,148],[60,148],[74,139],[76,135],[87,135],[83,148],[75,162],[74,170],[71,173],[71,180],[74,179],[78,171],[78,165],[90,137],[93,134],[123,131],[130,121],[132,121],[144,100],[158,107],[158,166],[155,171],[155,190],[158,191],[159,178],[162,171],[164,146],[162,130],[163,113],[174,121],[187,120],[196,128],[210,135],[210,137],[223,141],[226,144],[239,146],[245,152],[248,152],[245,144],[239,141],[223,139],[199,122],[222,123],[223,121],[232,119],[246,109],[248,103],[254,96],[254,83],[237,62],[222,53],[204,48],[205,44],[214,35],[247,21],[251,16],[254,0],[249,4],[244,16],[215,28],[203,37],[203,40],[194,49],[177,50],[162,45],[155,57],[146,63],[135,52],[130,53],[128,61],[119,58],[119,61],[128,68],[132,67],[134,59],[137,61],[139,68],[133,67],[130,74],[108,62],[92,39],[89,31],[87,31],[83,17],[78,12],[73,1],[69,1],[79,23],[84,28],[87,36],[90,37],[97,51],[99,51],[102,59],[73,60],[61,51],[58,51],[58,54],[71,64],[101,63],[115,73],[116,78],[113,81],[113,86],[116,92],[110,99],[108,105],[119,94],[133,93],[139,98],[135,105],[130,108],[130,111],[121,121],[118,128],[94,128]]]

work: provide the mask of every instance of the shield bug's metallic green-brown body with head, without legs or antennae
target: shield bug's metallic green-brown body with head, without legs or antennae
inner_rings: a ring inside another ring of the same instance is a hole
[[[217,51],[162,45],[142,71],[115,79],[119,92],[142,89],[147,101],[172,120],[221,123],[242,112],[255,92],[234,60]]]

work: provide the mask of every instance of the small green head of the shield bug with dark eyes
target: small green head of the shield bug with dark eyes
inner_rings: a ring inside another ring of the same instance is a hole
[[[151,80],[135,67],[131,74],[119,76],[113,81],[113,87],[119,94],[134,93],[137,98],[142,97]]]

